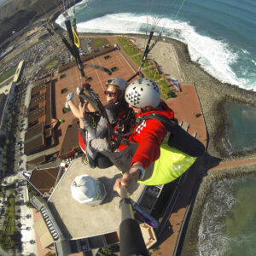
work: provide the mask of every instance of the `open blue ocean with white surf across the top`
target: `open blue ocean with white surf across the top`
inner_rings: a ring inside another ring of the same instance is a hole
[[[192,60],[207,73],[256,90],[254,0],[84,0],[75,12],[79,32],[145,33],[147,24],[156,25],[188,44]],[[73,9],[68,13],[73,17]]]

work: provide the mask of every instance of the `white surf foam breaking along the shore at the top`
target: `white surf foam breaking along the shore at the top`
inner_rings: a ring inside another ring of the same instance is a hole
[[[145,33],[147,20],[153,25],[157,22],[157,31],[163,31],[166,36],[188,44],[191,60],[198,62],[207,73],[221,82],[236,84],[247,90],[256,88],[256,84],[248,86],[248,79],[238,78],[232,70],[231,66],[236,63],[238,54],[232,51],[228,44],[199,34],[189,22],[166,18],[158,20],[154,16],[119,13],[80,22],[77,27],[79,32]],[[63,21],[63,16],[59,16],[56,20],[62,27]]]

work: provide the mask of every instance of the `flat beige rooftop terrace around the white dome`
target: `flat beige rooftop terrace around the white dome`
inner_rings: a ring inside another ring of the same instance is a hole
[[[101,205],[90,207],[73,199],[71,184],[75,177],[83,174],[98,178],[105,185],[107,196]],[[113,183],[117,177],[121,175],[115,166],[104,170],[91,169],[83,164],[81,158],[73,160],[48,201],[49,208],[67,239],[98,236],[119,230],[119,195],[113,191]],[[143,189],[144,185],[138,185],[131,198],[137,201]]]

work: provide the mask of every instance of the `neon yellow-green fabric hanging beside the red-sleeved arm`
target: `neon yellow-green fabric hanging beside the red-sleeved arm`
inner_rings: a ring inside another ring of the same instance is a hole
[[[138,181],[138,183],[149,186],[170,183],[186,172],[195,162],[196,157],[171,148],[167,141],[168,138],[160,145],[160,158],[154,162],[152,176],[144,181]]]

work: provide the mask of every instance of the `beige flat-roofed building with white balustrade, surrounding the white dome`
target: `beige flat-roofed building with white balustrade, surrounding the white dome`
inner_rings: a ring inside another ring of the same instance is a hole
[[[73,199],[73,180],[84,174],[95,177],[104,184],[107,196],[101,205],[90,207]],[[119,170],[114,166],[104,170],[91,169],[84,166],[81,158],[78,158],[68,166],[49,198],[32,198],[32,204],[41,212],[52,236],[56,255],[90,252],[119,242],[121,212],[119,196],[113,191],[113,183],[119,176]],[[162,189],[149,188],[151,192],[148,192],[147,186],[138,184],[131,198],[138,203],[143,201],[143,210],[150,214]],[[156,242],[154,230],[142,219],[140,223],[145,244],[151,247]]]

